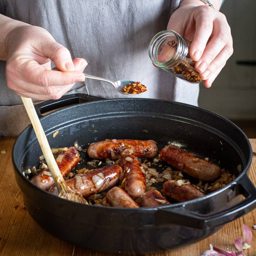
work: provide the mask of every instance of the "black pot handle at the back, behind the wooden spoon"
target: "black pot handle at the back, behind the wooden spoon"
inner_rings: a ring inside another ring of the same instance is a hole
[[[56,110],[61,107],[66,107],[83,102],[90,102],[95,100],[103,100],[103,98],[90,96],[87,94],[70,94],[62,96],[59,100],[48,100],[35,105],[38,117],[42,117],[43,113]]]

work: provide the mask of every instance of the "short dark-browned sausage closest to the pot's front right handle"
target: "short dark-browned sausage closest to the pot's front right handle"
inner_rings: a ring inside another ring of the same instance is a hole
[[[204,193],[191,184],[178,184],[175,180],[168,180],[164,183],[162,192],[172,200],[185,202],[204,196]]]

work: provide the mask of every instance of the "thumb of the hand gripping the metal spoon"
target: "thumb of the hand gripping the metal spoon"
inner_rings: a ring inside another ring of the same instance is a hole
[[[58,68],[60,71],[75,71],[75,66],[70,52],[62,44],[55,41],[46,42],[42,45],[41,51],[45,57],[54,62],[56,68]]]

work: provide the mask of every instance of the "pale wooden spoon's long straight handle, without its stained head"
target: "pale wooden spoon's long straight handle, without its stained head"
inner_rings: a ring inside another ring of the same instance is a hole
[[[50,149],[48,140],[44,133],[42,124],[37,116],[36,110],[34,108],[33,102],[31,98],[21,97],[22,102],[26,108],[27,114],[30,118],[32,126],[34,128],[34,132],[36,133],[36,137],[38,139],[39,145],[43,151],[44,158],[46,159],[49,170],[52,174],[53,180],[55,182],[58,191],[60,192],[61,188],[59,186],[59,182],[64,182],[64,178],[59,170],[59,167],[54,159],[52,154],[52,150]]]

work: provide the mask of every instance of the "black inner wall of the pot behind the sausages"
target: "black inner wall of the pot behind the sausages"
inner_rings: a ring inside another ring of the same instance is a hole
[[[237,174],[250,158],[244,133],[227,119],[198,107],[150,99],[118,99],[82,103],[41,118],[51,148],[86,146],[105,139],[155,140],[159,151],[167,144],[181,146]],[[53,138],[52,134],[59,130]],[[28,127],[16,142],[22,152],[20,170],[38,165],[42,151]],[[15,154],[15,151],[14,151]]]

